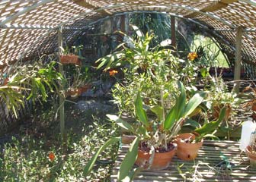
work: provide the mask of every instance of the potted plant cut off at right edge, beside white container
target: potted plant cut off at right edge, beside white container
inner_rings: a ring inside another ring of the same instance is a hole
[[[250,145],[245,149],[250,160],[251,167],[256,168],[256,131],[251,133]]]

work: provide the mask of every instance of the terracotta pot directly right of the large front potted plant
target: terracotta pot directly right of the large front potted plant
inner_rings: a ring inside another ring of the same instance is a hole
[[[176,138],[176,143],[178,145],[177,156],[184,161],[194,160],[197,157],[197,153],[200,147],[203,145],[203,140],[200,143],[186,143],[186,139],[195,139],[193,133],[182,133]]]

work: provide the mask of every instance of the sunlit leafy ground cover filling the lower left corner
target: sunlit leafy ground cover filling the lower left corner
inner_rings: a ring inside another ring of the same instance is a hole
[[[66,124],[69,124],[67,152],[62,151],[59,142],[59,122],[52,122],[50,127],[44,130],[40,128],[34,131],[37,123],[32,124],[29,129],[21,130],[18,138],[13,137],[9,143],[5,143],[5,146],[0,146],[0,180],[3,182],[110,180],[117,144],[105,149],[98,156],[91,172],[86,176],[83,174],[91,154],[98,150],[98,146],[117,135],[113,124],[102,117],[101,120],[97,119],[102,113],[98,115],[93,113],[96,118],[92,118],[91,114],[78,110],[67,111],[66,115],[71,115],[66,120]],[[53,161],[49,158],[50,152],[55,156]]]

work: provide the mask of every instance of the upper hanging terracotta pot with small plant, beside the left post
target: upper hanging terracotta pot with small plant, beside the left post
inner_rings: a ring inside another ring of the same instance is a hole
[[[79,59],[80,51],[83,49],[83,45],[72,46],[71,49],[66,47],[66,49],[62,49],[62,55],[60,55],[60,62],[62,64],[77,64],[81,65],[81,61]]]

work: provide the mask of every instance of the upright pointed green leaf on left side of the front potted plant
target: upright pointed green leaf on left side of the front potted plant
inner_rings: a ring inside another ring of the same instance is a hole
[[[139,118],[139,121],[142,122],[142,124],[144,124],[146,127],[149,127],[149,121],[146,117],[146,111],[143,109],[142,98],[139,92],[136,96],[134,105],[135,105],[135,112],[137,117]]]

